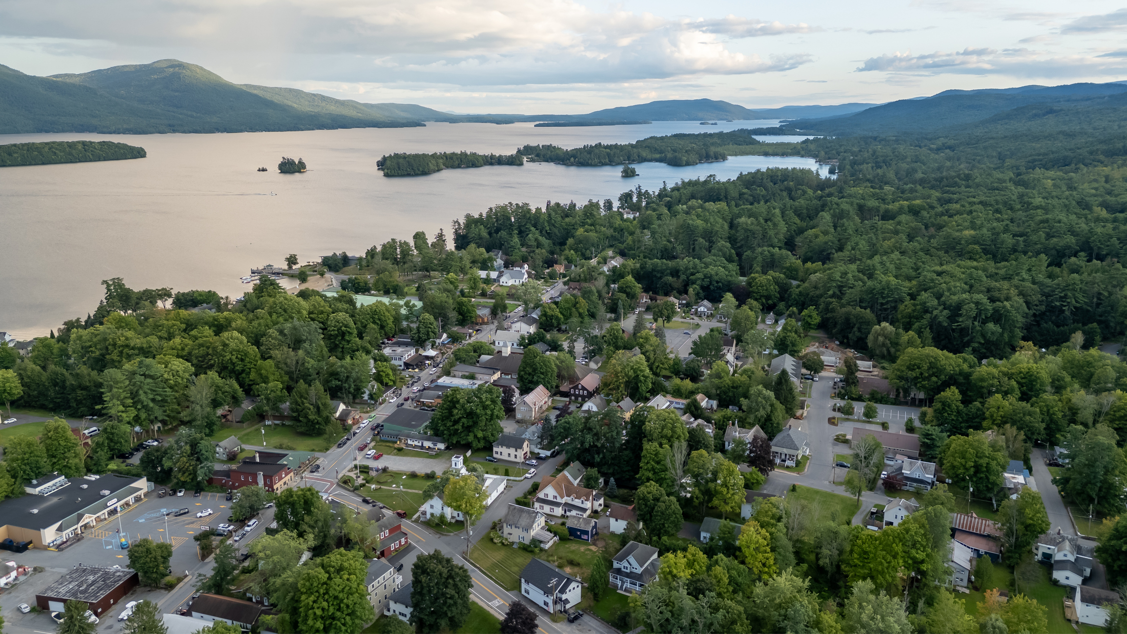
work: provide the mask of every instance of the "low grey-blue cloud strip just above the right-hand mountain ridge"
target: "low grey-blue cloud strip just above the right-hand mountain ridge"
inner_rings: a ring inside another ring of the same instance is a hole
[[[1029,48],[964,48],[951,53],[913,55],[896,52],[870,57],[857,72],[935,74],[1008,74],[1020,78],[1065,78],[1122,74],[1127,65],[1100,56],[1051,56]]]

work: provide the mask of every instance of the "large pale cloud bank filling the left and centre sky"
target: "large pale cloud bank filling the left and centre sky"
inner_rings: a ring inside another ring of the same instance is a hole
[[[461,86],[786,71],[811,56],[761,56],[734,51],[728,41],[814,30],[730,15],[672,20],[598,12],[574,0],[116,0],[113,10],[68,0],[0,3],[0,35],[194,50],[198,59],[254,55],[261,60],[259,77],[369,82],[415,77]]]

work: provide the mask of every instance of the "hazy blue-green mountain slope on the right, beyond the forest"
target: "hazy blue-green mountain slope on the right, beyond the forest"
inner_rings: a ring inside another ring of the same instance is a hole
[[[1098,120],[1109,123],[1125,106],[1127,83],[1120,82],[944,90],[842,116],[791,120],[783,130],[834,136],[999,131],[1015,126],[1071,130],[1097,125]],[[1037,124],[1037,119],[1044,120]]]

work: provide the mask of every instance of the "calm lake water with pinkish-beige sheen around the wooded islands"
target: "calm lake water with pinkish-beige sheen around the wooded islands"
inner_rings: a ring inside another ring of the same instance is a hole
[[[468,150],[512,153],[525,143],[575,148],[632,142],[678,132],[718,132],[777,122],[659,122],[651,125],[533,127],[532,124],[429,124],[245,134],[20,134],[0,143],[106,140],[141,145],[130,161],[0,169],[5,224],[0,330],[20,339],[86,316],[103,295],[100,280],[123,277],[133,288],[214,289],[239,296],[252,266],[301,261],[341,249],[362,253],[418,230],[451,232],[451,221],[490,205],[616,199],[640,185],[657,189],[681,179],[734,178],[769,167],[817,169],[800,157],[736,157],[674,168],[526,163],[385,178],[375,161],[392,152]],[[765,136],[763,141],[796,139]],[[281,175],[281,157],[303,158],[309,171]],[[270,171],[255,171],[258,167]],[[823,167],[825,175],[825,167]],[[272,195],[272,193],[274,195]]]

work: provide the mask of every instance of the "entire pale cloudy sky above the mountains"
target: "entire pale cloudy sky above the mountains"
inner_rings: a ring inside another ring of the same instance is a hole
[[[748,108],[1127,80],[1101,1],[3,0],[29,74],[175,57],[237,83],[456,113]]]

